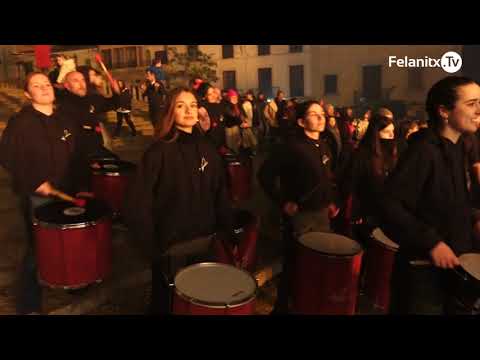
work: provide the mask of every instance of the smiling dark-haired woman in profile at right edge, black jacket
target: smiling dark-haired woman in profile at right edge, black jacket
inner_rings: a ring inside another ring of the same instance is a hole
[[[408,313],[420,294],[410,293],[415,280],[411,260],[430,260],[432,281],[416,284],[436,293],[433,308],[462,311],[454,300],[446,269],[459,265],[461,254],[480,251],[472,236],[462,134],[475,132],[480,118],[480,86],[466,77],[449,76],[429,90],[429,127],[411,136],[409,147],[386,183],[384,226],[400,245],[392,279],[392,312]]]

